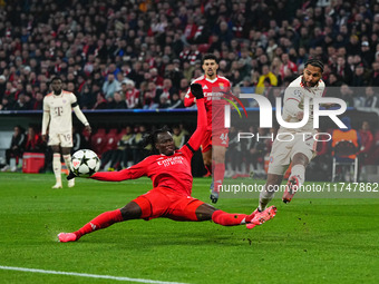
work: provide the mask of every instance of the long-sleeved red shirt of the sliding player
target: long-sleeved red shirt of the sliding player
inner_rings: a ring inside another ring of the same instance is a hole
[[[181,149],[173,155],[152,155],[143,161],[123,169],[120,172],[96,173],[90,178],[107,182],[122,182],[147,176],[153,180],[153,186],[164,186],[173,189],[177,194],[191,196],[192,173],[191,159],[193,154],[200,148],[206,130],[206,111],[204,99],[197,100],[197,128]]]

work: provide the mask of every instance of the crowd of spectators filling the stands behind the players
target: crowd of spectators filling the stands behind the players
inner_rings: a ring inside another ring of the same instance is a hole
[[[338,87],[349,107],[379,108],[377,1],[0,6],[0,110],[42,109],[54,76],[62,78],[81,109],[183,108],[190,82],[203,74],[205,52],[220,58],[218,74],[236,95],[249,87],[270,98],[272,87],[286,87],[313,57],[324,62],[325,85]]]

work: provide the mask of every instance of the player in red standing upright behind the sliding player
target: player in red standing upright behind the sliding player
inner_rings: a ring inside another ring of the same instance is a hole
[[[229,92],[231,82],[217,75],[218,63],[215,55],[207,53],[202,59],[204,75],[195,79],[193,84],[203,86],[205,109],[207,116],[207,130],[202,141],[204,166],[213,174],[211,185],[211,200],[218,200],[218,187],[224,180],[225,151],[229,146],[227,128],[224,128],[225,100],[220,99],[221,92]],[[195,96],[188,89],[184,98],[184,106],[191,107],[196,102]]]

